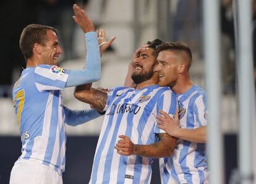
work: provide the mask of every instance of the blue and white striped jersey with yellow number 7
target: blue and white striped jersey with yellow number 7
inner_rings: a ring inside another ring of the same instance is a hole
[[[61,90],[69,72],[54,65],[29,67],[12,94],[22,139],[19,159],[41,162],[59,174],[64,171],[66,151]]]

